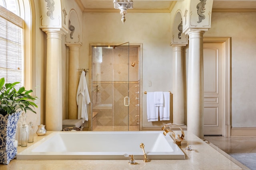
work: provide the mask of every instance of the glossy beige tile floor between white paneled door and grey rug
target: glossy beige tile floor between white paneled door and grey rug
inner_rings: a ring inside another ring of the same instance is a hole
[[[223,137],[220,135],[205,135],[204,138],[228,154],[256,153],[256,136]]]

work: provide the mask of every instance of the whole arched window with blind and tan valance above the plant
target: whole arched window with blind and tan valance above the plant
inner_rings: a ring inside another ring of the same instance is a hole
[[[6,82],[22,82],[23,86],[23,28],[16,0],[0,0],[0,78]],[[11,11],[12,12],[11,12]]]

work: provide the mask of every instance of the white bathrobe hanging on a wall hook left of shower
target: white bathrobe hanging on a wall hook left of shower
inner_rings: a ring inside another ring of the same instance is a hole
[[[78,119],[82,118],[83,123],[84,121],[88,121],[87,104],[90,102],[85,72],[82,71],[76,93],[76,104],[78,105],[77,117]]]

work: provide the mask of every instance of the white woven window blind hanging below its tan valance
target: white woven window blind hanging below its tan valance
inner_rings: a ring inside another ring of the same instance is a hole
[[[0,16],[0,30],[0,78],[22,82],[22,28]]]

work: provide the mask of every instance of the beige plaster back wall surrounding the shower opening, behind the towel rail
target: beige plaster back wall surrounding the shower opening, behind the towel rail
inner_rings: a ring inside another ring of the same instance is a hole
[[[121,44],[128,41],[143,43],[143,92],[172,91],[172,47],[168,13],[142,14],[128,11],[124,24],[119,12],[84,13],[80,67],[89,67],[89,43]],[[149,81],[152,86],[148,86]],[[146,95],[143,94],[142,97],[142,127],[161,127],[167,123],[147,121]]]

